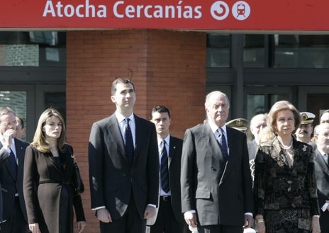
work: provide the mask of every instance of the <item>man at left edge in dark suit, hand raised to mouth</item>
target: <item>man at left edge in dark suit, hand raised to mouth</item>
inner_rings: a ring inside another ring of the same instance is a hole
[[[28,217],[23,196],[23,166],[27,142],[16,139],[16,115],[11,108],[0,108],[0,154],[8,156],[0,166],[2,190],[1,232],[28,232]]]

